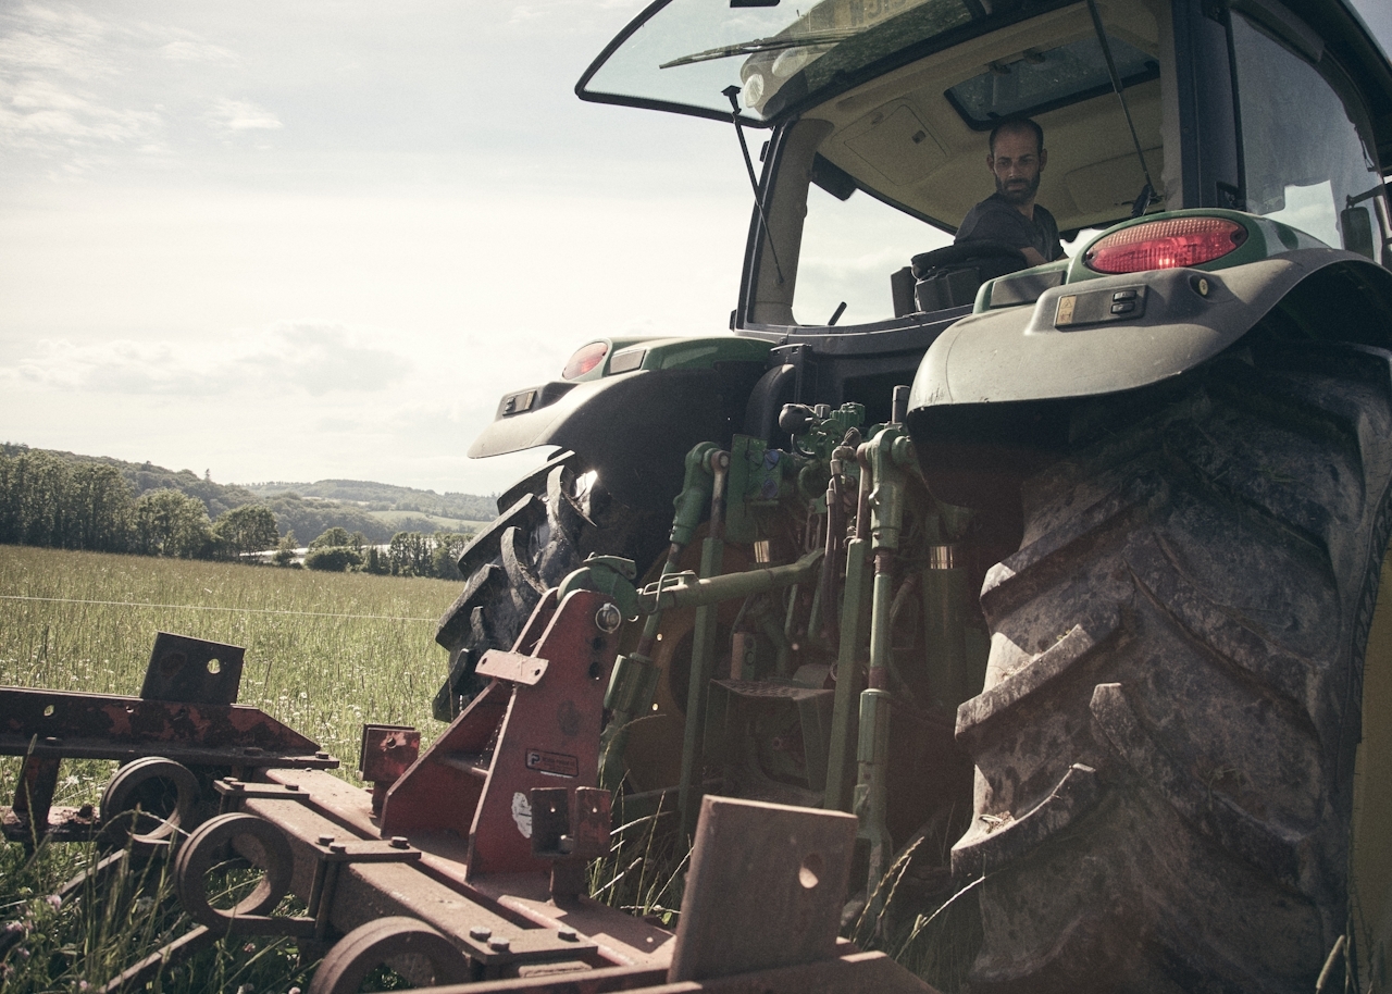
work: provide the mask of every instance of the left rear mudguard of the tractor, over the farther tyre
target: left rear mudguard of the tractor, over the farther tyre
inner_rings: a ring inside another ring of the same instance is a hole
[[[579,381],[547,383],[507,394],[472,458],[560,445],[599,472],[604,487],[631,508],[670,501],[682,486],[682,459],[699,441],[728,443],[764,372],[770,344],[721,337],[622,344],[644,351],[642,365]]]

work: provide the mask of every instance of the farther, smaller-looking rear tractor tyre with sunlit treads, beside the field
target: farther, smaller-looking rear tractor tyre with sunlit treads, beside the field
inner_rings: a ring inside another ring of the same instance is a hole
[[[498,498],[498,518],[459,554],[464,592],[441,615],[436,642],[450,670],[433,713],[452,720],[483,689],[475,667],[489,649],[511,649],[541,594],[590,553],[647,565],[665,539],[664,511],[610,498],[574,452],[564,452]],[[670,511],[665,511],[670,518]]]

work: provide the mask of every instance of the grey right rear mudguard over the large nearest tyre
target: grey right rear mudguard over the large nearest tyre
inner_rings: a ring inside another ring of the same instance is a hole
[[[1112,315],[1116,294],[1137,306]],[[967,507],[1009,505],[1066,447],[1073,401],[1178,377],[1268,316],[1302,337],[1392,348],[1392,273],[1324,246],[1214,271],[1070,278],[1031,306],[977,310],[924,355],[908,418],[930,489]]]

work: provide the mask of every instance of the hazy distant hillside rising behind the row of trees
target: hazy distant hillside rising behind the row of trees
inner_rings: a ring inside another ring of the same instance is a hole
[[[0,455],[45,451],[68,462],[99,462],[116,466],[131,484],[135,497],[150,490],[178,490],[203,501],[209,518],[234,507],[264,504],[276,515],[280,533],[295,533],[301,543],[330,528],[362,532],[369,542],[390,542],[397,532],[469,532],[479,522],[497,516],[497,497],[397,487],[366,480],[320,480],[319,483],[216,483],[205,472],[166,469],[153,462],[125,462],[109,455],[79,455],[56,450],[0,443]]]

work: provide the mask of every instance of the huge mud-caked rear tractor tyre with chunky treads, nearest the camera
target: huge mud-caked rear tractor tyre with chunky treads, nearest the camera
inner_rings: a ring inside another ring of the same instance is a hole
[[[1228,354],[1080,408],[1026,483],[958,711],[973,994],[1314,990],[1346,930],[1389,358]]]

